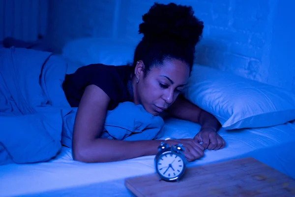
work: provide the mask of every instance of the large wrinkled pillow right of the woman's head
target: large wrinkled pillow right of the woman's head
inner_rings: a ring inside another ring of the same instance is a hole
[[[295,120],[295,94],[211,67],[194,65],[184,96],[227,130]]]

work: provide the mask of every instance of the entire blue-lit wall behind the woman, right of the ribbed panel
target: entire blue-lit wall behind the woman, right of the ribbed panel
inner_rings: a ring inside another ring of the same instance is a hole
[[[295,1],[158,0],[192,5],[204,21],[196,63],[295,91]],[[80,3],[79,3],[80,2]],[[49,37],[57,52],[79,37],[111,37],[136,44],[138,25],[154,0],[52,0]],[[291,19],[293,17],[293,19]],[[293,39],[294,40],[294,39]],[[284,49],[284,50],[282,50]]]

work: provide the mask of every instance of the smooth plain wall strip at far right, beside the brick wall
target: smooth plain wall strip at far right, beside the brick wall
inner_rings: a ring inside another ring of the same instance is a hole
[[[274,17],[267,70],[268,84],[295,92],[295,1],[278,3]]]

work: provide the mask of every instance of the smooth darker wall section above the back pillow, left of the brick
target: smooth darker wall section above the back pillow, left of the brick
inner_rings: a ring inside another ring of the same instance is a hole
[[[48,39],[61,52],[69,40],[79,37],[112,37],[119,0],[50,0]]]

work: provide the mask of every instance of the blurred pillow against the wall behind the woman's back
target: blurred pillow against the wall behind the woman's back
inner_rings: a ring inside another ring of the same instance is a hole
[[[62,49],[62,56],[72,63],[126,65],[133,61],[135,45],[110,38],[81,38],[69,41]]]

